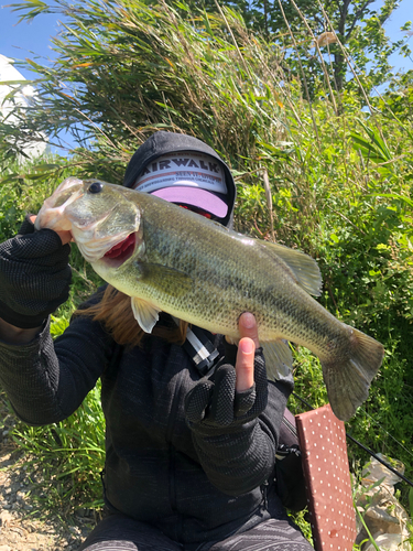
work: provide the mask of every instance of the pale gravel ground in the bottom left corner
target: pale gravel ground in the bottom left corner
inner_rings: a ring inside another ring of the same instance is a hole
[[[10,441],[15,423],[0,396],[0,551],[75,551],[95,526],[90,509],[78,509],[63,520],[58,512],[46,520],[39,514],[34,482],[41,474],[24,464],[24,454]]]

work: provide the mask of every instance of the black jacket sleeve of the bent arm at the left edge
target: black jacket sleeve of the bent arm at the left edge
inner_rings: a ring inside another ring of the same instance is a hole
[[[95,387],[112,350],[113,341],[87,316],[74,318],[55,342],[47,322],[29,344],[0,341],[0,385],[22,421],[62,421]]]

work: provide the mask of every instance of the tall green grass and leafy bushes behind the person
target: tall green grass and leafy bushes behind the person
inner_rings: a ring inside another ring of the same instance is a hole
[[[327,47],[318,54],[313,47],[308,95],[300,56],[295,65],[284,63],[294,34],[283,43],[276,33],[264,39],[229,8],[209,13],[139,0],[53,6],[20,6],[26,19],[57,10],[66,23],[54,41],[58,58],[52,67],[24,62],[41,76],[19,129],[0,120],[0,238],[13,235],[21,213],[35,212],[64,175],[121,183],[130,155],[156,129],[206,140],[237,176],[238,229],[316,258],[323,305],[383,343],[383,367],[347,431],[402,461],[412,479],[411,76],[372,95],[376,80],[355,71],[352,85],[341,89],[332,86]],[[347,51],[339,52],[346,60]],[[78,137],[70,156],[13,164],[25,136],[42,131],[57,140],[62,130]],[[97,283],[77,253],[73,264],[73,294],[56,314],[56,333]],[[295,356],[296,392],[314,407],[324,404],[317,358],[303,349]],[[57,428],[20,426],[17,436],[89,503],[99,498],[98,483],[90,480],[98,478],[104,447],[97,400],[94,392]],[[301,410],[294,398],[290,406]],[[349,456],[357,476],[368,456],[354,444]],[[409,508],[409,487],[401,484],[400,491]]]

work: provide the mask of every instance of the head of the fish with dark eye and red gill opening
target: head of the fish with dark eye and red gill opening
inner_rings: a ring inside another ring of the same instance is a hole
[[[35,228],[69,230],[88,262],[122,263],[141,241],[141,213],[128,190],[100,180],[68,177],[44,202]]]

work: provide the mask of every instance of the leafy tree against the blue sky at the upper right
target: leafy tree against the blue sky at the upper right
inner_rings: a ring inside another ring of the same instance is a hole
[[[198,3],[189,1],[189,6]],[[208,11],[217,11],[216,0],[203,0],[202,3]],[[380,8],[373,0],[275,0],[273,3],[268,0],[232,0],[225,3],[242,14],[249,29],[283,48],[284,71],[296,73],[304,69],[312,97],[320,76],[318,48],[325,50],[327,42],[326,60],[333,68],[329,84],[340,91],[344,88],[357,89],[348,60],[357,65],[363,86],[371,89],[389,80],[392,53],[399,52],[405,57],[411,54],[405,40],[392,43],[383,29],[399,7],[399,0],[385,0]],[[409,29],[410,22],[404,26],[404,30]],[[346,47],[346,54],[341,45]]]

